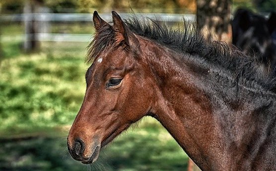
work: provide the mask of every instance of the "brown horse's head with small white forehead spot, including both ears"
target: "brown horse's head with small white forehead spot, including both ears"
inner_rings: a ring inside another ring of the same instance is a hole
[[[138,37],[112,12],[113,26],[95,11],[96,35],[86,72],[86,92],[68,136],[71,156],[92,163],[100,149],[132,123],[150,113],[154,85],[139,61]],[[149,68],[148,68],[149,69]]]

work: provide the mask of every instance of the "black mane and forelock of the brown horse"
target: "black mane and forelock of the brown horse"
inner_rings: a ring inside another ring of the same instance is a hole
[[[176,30],[163,23],[151,19],[139,20],[137,17],[125,20],[130,30],[142,37],[152,40],[178,53],[190,54],[202,58],[217,70],[228,71],[237,81],[256,82],[266,91],[276,93],[276,80],[272,76],[265,76],[259,68],[259,62],[248,57],[237,48],[229,47],[225,43],[206,41],[198,34],[196,28],[188,22]],[[91,63],[94,58],[106,48],[114,48],[114,30],[110,26],[102,28],[88,46],[86,61]]]

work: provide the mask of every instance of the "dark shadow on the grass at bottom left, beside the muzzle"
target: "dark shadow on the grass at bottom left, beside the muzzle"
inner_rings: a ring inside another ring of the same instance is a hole
[[[66,140],[31,137],[0,141],[0,171],[83,171],[67,154]]]

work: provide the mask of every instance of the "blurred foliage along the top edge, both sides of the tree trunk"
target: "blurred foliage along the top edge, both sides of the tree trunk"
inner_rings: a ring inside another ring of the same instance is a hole
[[[22,12],[25,0],[1,0],[0,9],[5,12]],[[110,12],[111,9],[130,12],[195,13],[196,0],[36,0],[52,12]],[[276,0],[233,0],[232,10],[247,7],[259,12],[276,10]]]

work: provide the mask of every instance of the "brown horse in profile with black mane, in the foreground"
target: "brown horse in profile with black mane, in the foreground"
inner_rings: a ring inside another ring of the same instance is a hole
[[[75,160],[93,163],[149,115],[203,171],[276,171],[276,81],[251,57],[187,26],[112,17],[94,12],[87,89],[68,136]]]

